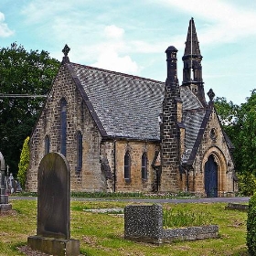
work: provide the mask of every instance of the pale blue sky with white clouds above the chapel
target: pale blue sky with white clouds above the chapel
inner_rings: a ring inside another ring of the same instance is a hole
[[[179,83],[193,17],[205,91],[241,104],[256,89],[255,0],[0,0],[0,48],[13,42],[101,69],[165,81],[165,49]],[[207,97],[208,98],[208,97]]]

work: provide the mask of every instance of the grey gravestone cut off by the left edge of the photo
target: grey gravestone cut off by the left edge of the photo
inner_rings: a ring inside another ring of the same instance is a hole
[[[12,209],[12,205],[9,204],[8,195],[5,193],[5,158],[0,152],[0,213]]]

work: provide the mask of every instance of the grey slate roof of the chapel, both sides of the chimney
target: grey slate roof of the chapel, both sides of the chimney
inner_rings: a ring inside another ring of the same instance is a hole
[[[69,63],[73,76],[91,101],[107,136],[138,140],[160,140],[158,116],[162,113],[165,82]],[[183,122],[186,126],[187,161],[206,114],[201,102],[180,87]]]

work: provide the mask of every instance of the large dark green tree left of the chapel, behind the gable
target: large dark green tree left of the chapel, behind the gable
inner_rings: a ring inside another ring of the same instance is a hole
[[[0,48],[0,93],[45,95],[59,69],[47,51],[30,50],[13,43]],[[0,150],[16,174],[24,139],[37,122],[45,98],[0,97]]]

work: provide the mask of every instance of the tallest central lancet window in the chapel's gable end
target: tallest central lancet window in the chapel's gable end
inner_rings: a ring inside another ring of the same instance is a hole
[[[67,144],[67,101],[60,101],[60,153],[66,156]]]

